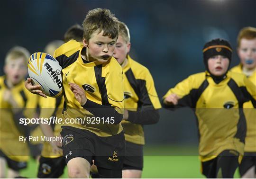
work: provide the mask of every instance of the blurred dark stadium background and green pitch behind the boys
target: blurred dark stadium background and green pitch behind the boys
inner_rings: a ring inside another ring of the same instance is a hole
[[[87,11],[98,7],[110,9],[128,25],[130,54],[150,70],[160,98],[178,81],[204,71],[206,41],[228,39],[234,66],[239,62],[238,31],[256,27],[256,0],[2,0],[0,75],[12,46],[24,46],[30,53],[43,51],[48,42],[62,40],[68,27],[82,24]],[[160,122],[144,128],[144,178],[203,178],[191,110],[162,109]],[[37,164],[31,159],[22,174],[36,178],[36,172]]]

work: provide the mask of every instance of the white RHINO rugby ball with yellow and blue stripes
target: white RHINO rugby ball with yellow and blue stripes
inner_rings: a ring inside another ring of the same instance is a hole
[[[35,85],[49,97],[57,98],[62,94],[61,66],[49,54],[37,52],[27,62],[28,74]]]

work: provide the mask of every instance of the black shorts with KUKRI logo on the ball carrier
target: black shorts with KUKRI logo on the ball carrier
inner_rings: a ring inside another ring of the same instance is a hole
[[[73,158],[82,157],[109,170],[122,170],[125,156],[123,131],[119,134],[100,137],[88,130],[62,126],[62,149],[66,163]]]

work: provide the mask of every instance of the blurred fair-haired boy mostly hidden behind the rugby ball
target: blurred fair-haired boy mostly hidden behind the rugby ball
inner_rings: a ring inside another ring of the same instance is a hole
[[[46,45],[45,53],[54,55],[55,50],[63,45],[61,40],[54,40]],[[39,117],[50,118],[51,116],[62,118],[64,97],[60,98],[44,98],[39,96],[38,106],[40,107]],[[40,124],[40,128],[46,137],[60,137],[61,125],[59,124]],[[63,174],[65,160],[62,155],[62,143],[45,142],[43,144],[39,167],[38,178],[59,178]]]

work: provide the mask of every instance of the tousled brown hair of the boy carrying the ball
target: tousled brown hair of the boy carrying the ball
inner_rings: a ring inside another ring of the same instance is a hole
[[[92,9],[83,20],[83,38],[89,43],[91,35],[99,30],[103,31],[103,36],[111,39],[117,38],[119,34],[119,21],[109,9]]]

